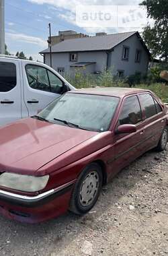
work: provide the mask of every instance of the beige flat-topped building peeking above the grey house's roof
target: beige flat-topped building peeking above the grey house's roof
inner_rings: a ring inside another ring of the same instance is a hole
[[[83,37],[89,36],[83,33],[77,33],[74,30],[59,31],[58,36],[51,36],[51,45],[58,44],[59,42],[63,42],[64,40]],[[50,41],[50,38],[48,38],[48,41]]]

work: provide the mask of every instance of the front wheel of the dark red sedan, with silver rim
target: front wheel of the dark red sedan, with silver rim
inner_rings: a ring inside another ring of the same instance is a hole
[[[79,175],[71,195],[69,210],[85,214],[95,205],[102,187],[102,171],[98,164],[89,164]]]

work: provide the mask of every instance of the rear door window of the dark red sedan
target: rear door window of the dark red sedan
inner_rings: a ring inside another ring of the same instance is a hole
[[[148,119],[149,117],[153,117],[157,114],[155,102],[150,94],[140,94],[139,98],[140,102],[142,103],[142,106],[144,107],[146,119]]]

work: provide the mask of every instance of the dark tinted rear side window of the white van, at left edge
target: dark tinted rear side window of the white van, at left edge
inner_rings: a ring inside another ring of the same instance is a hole
[[[0,61],[0,92],[9,92],[16,84],[15,64]]]

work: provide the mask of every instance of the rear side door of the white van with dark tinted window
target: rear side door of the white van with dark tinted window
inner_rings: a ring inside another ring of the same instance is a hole
[[[0,125],[22,118],[19,61],[0,60]]]

